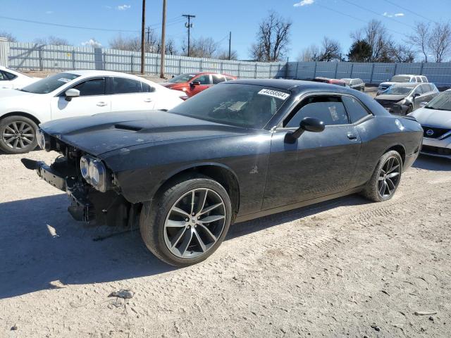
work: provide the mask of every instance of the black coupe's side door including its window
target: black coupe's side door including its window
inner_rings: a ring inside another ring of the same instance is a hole
[[[340,96],[309,96],[290,115],[273,133],[263,209],[350,189],[357,165],[362,142]],[[325,130],[286,142],[305,117],[323,120]]]

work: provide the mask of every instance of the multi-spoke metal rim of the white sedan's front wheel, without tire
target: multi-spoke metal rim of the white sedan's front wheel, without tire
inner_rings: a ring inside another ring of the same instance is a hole
[[[35,130],[24,121],[14,121],[4,127],[1,138],[9,148],[23,150],[32,146],[35,141]]]

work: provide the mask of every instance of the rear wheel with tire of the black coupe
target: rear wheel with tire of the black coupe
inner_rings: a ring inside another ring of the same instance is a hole
[[[370,201],[381,202],[391,199],[400,184],[402,158],[397,151],[388,151],[381,156],[371,179],[362,194]]]

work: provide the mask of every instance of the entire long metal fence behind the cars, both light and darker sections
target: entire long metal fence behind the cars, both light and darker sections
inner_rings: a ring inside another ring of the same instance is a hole
[[[8,65],[18,70],[114,70],[139,73],[141,56],[137,51],[51,46],[32,43],[7,43]],[[0,48],[3,52],[4,48]],[[145,55],[145,73],[159,74],[159,54]],[[218,72],[240,78],[286,77],[311,80],[314,77],[359,77],[369,84],[390,80],[395,74],[426,75],[438,87],[451,86],[451,63],[357,63],[357,62],[251,62],[191,58],[167,55],[165,73]]]

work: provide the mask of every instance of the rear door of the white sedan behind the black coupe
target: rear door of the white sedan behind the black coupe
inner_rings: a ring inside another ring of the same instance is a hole
[[[149,84],[127,77],[111,78],[111,111],[152,111],[157,99]]]

